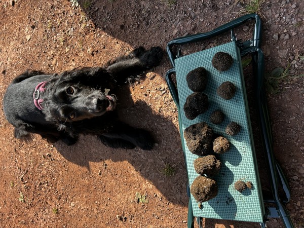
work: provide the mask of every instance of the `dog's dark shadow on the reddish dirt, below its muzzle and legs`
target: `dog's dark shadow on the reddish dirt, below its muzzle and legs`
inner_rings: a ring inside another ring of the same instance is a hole
[[[167,118],[155,113],[143,102],[133,102],[131,93],[125,88],[119,91],[119,116],[123,121],[136,128],[149,130],[156,140],[150,151],[135,149],[115,149],[102,144],[96,136],[80,136],[75,145],[67,146],[62,142],[54,143],[58,152],[69,162],[90,170],[90,162],[128,161],[145,179],[172,203],[187,205],[187,176],[176,126]],[[175,134],[172,134],[175,132]],[[166,164],[174,166],[176,172],[168,176],[162,173]],[[174,194],[172,194],[174,193]]]

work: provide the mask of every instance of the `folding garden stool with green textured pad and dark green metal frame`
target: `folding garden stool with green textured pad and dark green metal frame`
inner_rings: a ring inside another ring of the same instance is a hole
[[[252,39],[238,41],[233,29],[250,21],[254,22]],[[231,42],[181,56],[180,45],[213,39],[214,36],[227,31],[231,31]],[[263,87],[264,57],[260,45],[261,21],[257,14],[242,16],[207,33],[179,37],[167,45],[167,53],[173,68],[168,70],[166,81],[178,108],[181,142],[188,175],[188,227],[194,227],[195,217],[200,227],[202,227],[201,218],[203,217],[259,222],[261,227],[266,226],[269,218],[280,217],[287,228],[294,227],[285,206],[290,200],[290,189],[273,153],[273,135]],[[214,54],[220,51],[229,53],[233,57],[233,65],[227,71],[218,71],[211,64]],[[264,196],[258,174],[241,60],[241,57],[247,55],[251,56],[253,77],[256,82],[255,99],[260,141],[265,164],[268,167],[271,197]],[[194,120],[189,120],[185,117],[183,105],[187,96],[193,91],[188,88],[185,79],[189,71],[198,67],[204,67],[209,73],[207,88],[204,90],[204,93],[209,97],[209,108]],[[174,74],[176,82],[172,80]],[[236,95],[229,101],[216,95],[216,88],[225,81],[231,81],[237,87]],[[221,109],[225,113],[225,120],[220,125],[213,125],[209,121],[210,113],[215,109]],[[218,156],[222,163],[219,174],[214,177],[218,185],[218,194],[199,207],[194,197],[189,193],[189,186],[199,175],[193,166],[193,162],[198,156],[189,151],[183,137],[184,129],[192,124],[206,122],[215,132],[224,134],[224,126],[231,121],[239,123],[242,130],[236,136],[225,135],[232,146],[227,153]],[[234,183],[240,179],[252,182],[253,188],[246,190],[247,192],[243,194],[236,191]],[[283,196],[279,193],[279,189],[283,189]]]

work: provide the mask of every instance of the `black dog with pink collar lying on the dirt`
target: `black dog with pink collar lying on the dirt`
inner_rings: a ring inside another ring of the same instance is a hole
[[[104,91],[133,83],[144,70],[159,65],[163,51],[139,47],[105,67],[82,67],[61,74],[26,71],[9,85],[3,101],[7,120],[16,138],[40,134],[50,142],[70,145],[79,134],[93,134],[114,148],[151,149],[154,140],[143,129],[119,121],[115,95]]]

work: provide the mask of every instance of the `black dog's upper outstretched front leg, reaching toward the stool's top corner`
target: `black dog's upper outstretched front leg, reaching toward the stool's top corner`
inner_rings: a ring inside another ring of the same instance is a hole
[[[117,81],[117,85],[140,80],[140,74],[160,64],[163,50],[153,47],[149,50],[139,47],[129,55],[118,57],[109,63],[106,70]]]

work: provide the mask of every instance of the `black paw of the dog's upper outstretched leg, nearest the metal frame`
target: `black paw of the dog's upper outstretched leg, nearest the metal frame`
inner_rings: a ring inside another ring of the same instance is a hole
[[[160,47],[153,47],[146,51],[141,57],[140,61],[147,69],[158,66],[164,56],[164,51]]]

